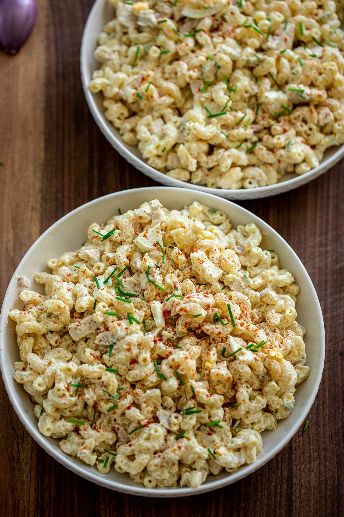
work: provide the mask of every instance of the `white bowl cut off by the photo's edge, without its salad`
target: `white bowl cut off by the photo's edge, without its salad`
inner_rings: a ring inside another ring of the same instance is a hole
[[[107,120],[104,116],[103,108],[103,95],[92,94],[88,89],[88,84],[92,78],[92,73],[100,67],[100,64],[94,59],[93,53],[97,46],[97,37],[102,32],[104,25],[113,18],[113,7],[110,6],[108,0],[96,0],[94,3],[89,17],[87,19],[83,40],[81,42],[80,52],[80,71],[81,81],[83,83],[84,94],[86,97],[87,104],[91,110],[94,120],[97,126],[104,134],[105,138],[110,142],[127,162],[134,165],[136,169],[143,172],[146,176],[151,177],[155,181],[158,181],[162,185],[168,185],[171,187],[183,187],[209,194],[215,194],[226,199],[243,200],[243,199],[258,199],[260,197],[268,197],[270,195],[281,194],[288,190],[295,189],[301,185],[305,185],[308,181],[317,178],[320,174],[323,174],[329,170],[335,163],[337,163],[344,156],[344,144],[340,147],[333,147],[326,151],[325,158],[315,169],[297,176],[295,174],[286,174],[275,185],[269,185],[267,187],[257,187],[254,189],[214,189],[209,187],[203,187],[200,185],[193,185],[192,183],[186,183],[179,179],[170,178],[157,171],[150,165],[148,165],[138,148],[136,146],[127,145],[123,142],[118,130]]]

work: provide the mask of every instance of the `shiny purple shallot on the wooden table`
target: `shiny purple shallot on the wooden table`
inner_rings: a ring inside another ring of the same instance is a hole
[[[0,0],[0,43],[8,54],[17,54],[37,19],[35,0]]]

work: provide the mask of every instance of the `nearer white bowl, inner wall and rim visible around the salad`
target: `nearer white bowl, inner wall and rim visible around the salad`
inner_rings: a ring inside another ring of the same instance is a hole
[[[267,249],[274,249],[279,254],[282,267],[288,268],[292,272],[300,286],[300,294],[296,305],[297,319],[300,324],[307,328],[305,343],[310,373],[306,381],[297,386],[296,403],[291,415],[285,420],[279,421],[275,431],[264,431],[263,452],[258,455],[255,463],[244,466],[233,474],[221,473],[218,476],[209,476],[205,483],[196,489],[181,486],[166,489],[145,488],[131,481],[127,474],[119,474],[114,468],[111,469],[111,473],[102,475],[96,467],[91,467],[68,456],[60,450],[59,440],[47,438],[39,432],[37,418],[33,412],[34,404],[30,402],[28,393],[13,378],[13,362],[19,360],[19,349],[13,334],[14,322],[9,320],[8,313],[10,309],[23,308],[23,302],[18,298],[22,288],[18,285],[15,276],[25,275],[31,280],[32,289],[43,293],[42,285],[36,284],[33,277],[37,271],[48,270],[46,267],[48,258],[58,257],[65,251],[77,249],[84,242],[91,222],[105,222],[110,216],[117,213],[118,208],[121,208],[124,212],[127,209],[138,207],[144,201],[156,198],[170,209],[181,209],[184,205],[199,201],[223,210],[235,226],[249,222],[257,224],[261,232],[264,233],[263,246]],[[248,210],[205,192],[180,188],[148,187],[108,194],[76,208],[48,228],[31,246],[15,271],[5,294],[0,316],[0,350],[2,375],[15,412],[36,442],[57,461],[76,474],[113,490],[143,496],[181,497],[215,490],[248,476],[273,458],[289,442],[290,438],[300,430],[318,391],[324,363],[325,334],[319,301],[307,271],[286,241],[268,224]],[[297,459],[297,461],[299,460]]]

